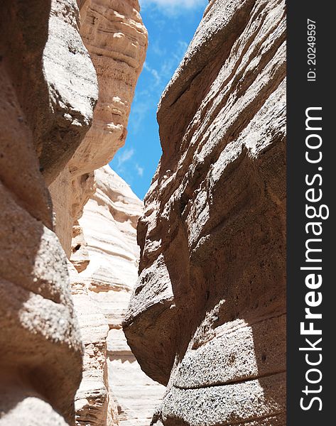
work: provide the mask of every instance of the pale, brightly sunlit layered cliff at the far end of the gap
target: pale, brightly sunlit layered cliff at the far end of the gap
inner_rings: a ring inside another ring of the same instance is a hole
[[[138,276],[136,223],[143,203],[109,166],[94,179],[97,189],[84,207],[71,257],[80,271],[72,268],[70,280],[85,344],[77,425],[145,426],[164,388],[141,371],[121,329]],[[84,269],[81,256],[89,258]]]

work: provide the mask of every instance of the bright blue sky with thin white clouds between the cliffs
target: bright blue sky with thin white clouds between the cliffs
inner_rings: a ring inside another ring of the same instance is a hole
[[[129,117],[128,136],[111,167],[143,199],[151,185],[161,145],[156,109],[200,23],[208,0],[140,0],[149,45]]]

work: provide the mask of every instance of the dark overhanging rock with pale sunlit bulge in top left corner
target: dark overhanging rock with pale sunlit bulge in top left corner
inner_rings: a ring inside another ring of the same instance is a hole
[[[90,127],[97,77],[78,33],[75,0],[1,1],[2,54],[33,131],[47,184],[65,167]],[[33,107],[32,107],[33,106]]]

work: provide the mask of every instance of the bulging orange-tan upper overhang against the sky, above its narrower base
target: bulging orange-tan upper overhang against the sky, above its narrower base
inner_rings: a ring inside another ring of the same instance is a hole
[[[109,163],[124,145],[134,89],[145,60],[148,35],[138,0],[87,0],[80,33],[99,82],[94,122],[70,163],[76,175]]]

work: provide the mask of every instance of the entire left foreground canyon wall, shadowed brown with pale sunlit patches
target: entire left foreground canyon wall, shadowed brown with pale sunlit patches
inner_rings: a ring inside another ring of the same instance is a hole
[[[82,343],[46,183],[75,152],[97,101],[78,17],[74,0],[0,4],[0,424],[6,426],[75,420]]]

